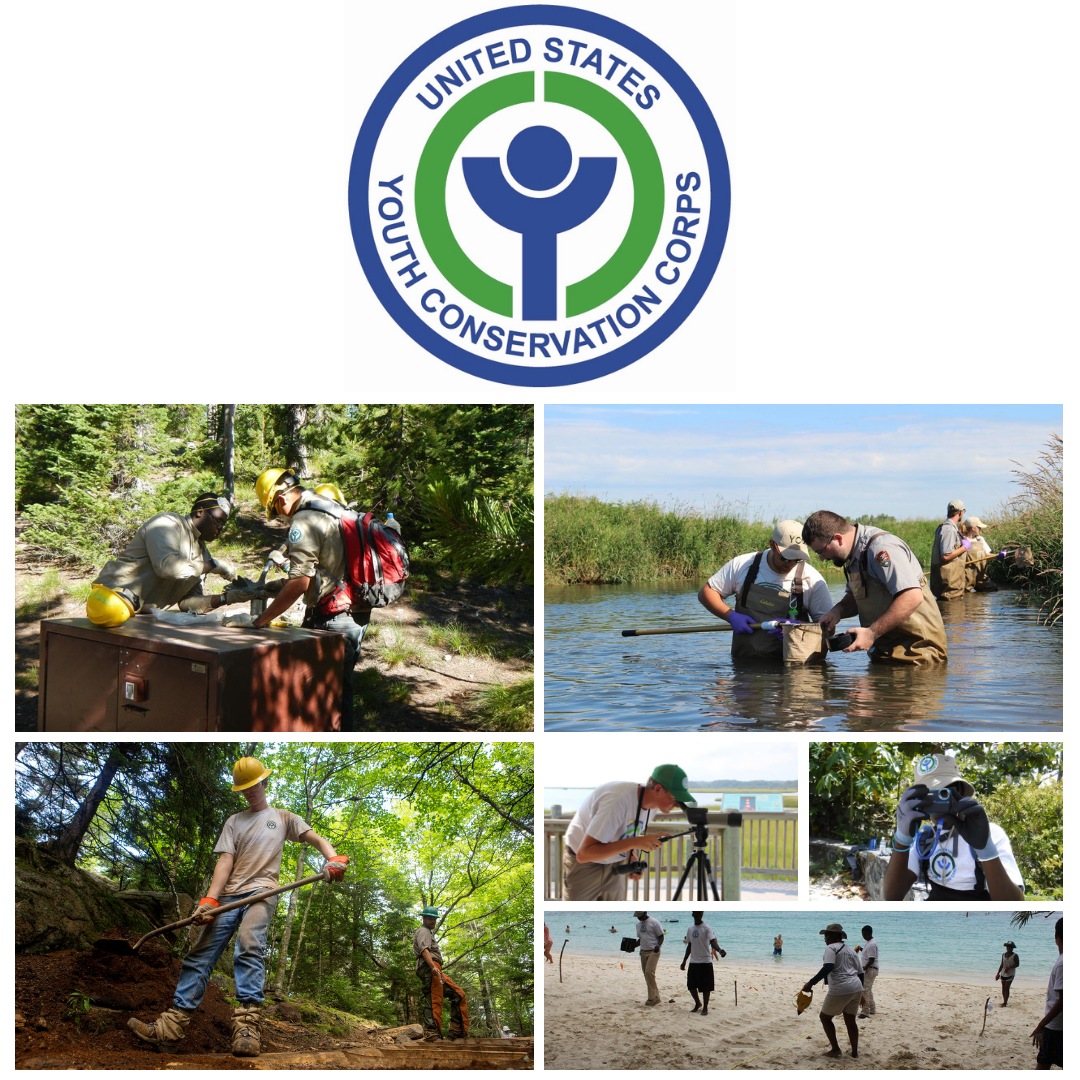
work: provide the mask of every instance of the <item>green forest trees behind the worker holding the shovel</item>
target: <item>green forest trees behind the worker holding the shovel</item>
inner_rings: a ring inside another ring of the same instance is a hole
[[[415,1022],[411,935],[430,904],[473,1031],[505,1023],[531,1034],[531,743],[19,744],[16,834],[120,888],[163,891],[179,909],[181,893],[208,886],[221,826],[244,808],[231,765],[252,753],[274,770],[270,804],[350,859],[343,882],[283,895],[268,993]],[[321,861],[286,845],[282,883]],[[228,953],[218,970],[231,976]]]

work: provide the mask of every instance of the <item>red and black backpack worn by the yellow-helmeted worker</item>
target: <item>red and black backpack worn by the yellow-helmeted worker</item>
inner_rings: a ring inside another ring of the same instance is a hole
[[[400,599],[408,578],[408,552],[397,531],[329,499],[308,499],[303,510],[336,517],[345,541],[346,580],[320,600],[316,611],[329,618],[355,607],[386,607]]]

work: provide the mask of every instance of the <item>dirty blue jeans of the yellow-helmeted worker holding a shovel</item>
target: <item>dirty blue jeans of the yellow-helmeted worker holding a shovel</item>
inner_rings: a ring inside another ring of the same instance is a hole
[[[254,896],[260,889],[252,892],[238,893],[235,896],[222,896],[226,903]],[[237,934],[237,947],[232,953],[232,973],[237,981],[237,1000],[241,1004],[260,1004],[262,1002],[262,984],[266,981],[262,967],[262,950],[267,944],[267,932],[270,920],[278,907],[278,897],[259,901],[247,907],[238,907],[232,912],[219,915],[213,922],[203,927],[202,935],[195,947],[184,958],[184,968],[176,983],[173,1004],[177,1009],[193,1010],[199,1008],[206,983],[210,981],[214,964],[221,958],[229,939],[240,928]]]

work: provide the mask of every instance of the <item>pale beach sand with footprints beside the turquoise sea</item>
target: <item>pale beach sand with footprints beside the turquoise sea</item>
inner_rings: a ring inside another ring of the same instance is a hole
[[[677,949],[681,960],[683,946]],[[996,960],[989,959],[991,968]],[[636,953],[619,960],[573,956],[568,948],[562,983],[557,953],[555,963],[543,967],[545,1069],[730,1069],[743,1062],[748,1069],[1032,1069],[1029,1036],[1045,1001],[1044,985],[1017,986],[1001,1009],[993,978],[977,986],[890,976],[886,968],[874,986],[876,1015],[859,1021],[859,1058],[851,1057],[841,1017],[843,1056],[829,1058],[818,1018],[824,986],[814,987],[813,1004],[798,1015],[795,995],[816,969],[795,961],[771,968],[718,961],[707,1016],[690,1013],[686,973],[666,959],[657,968],[656,1007],[645,1005]],[[987,996],[995,1009],[980,1036]]]

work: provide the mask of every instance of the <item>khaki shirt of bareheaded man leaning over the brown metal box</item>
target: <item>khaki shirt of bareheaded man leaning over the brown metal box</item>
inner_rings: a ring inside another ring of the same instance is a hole
[[[94,579],[107,589],[130,589],[144,604],[168,607],[202,593],[210,552],[189,515],[154,514],[138,527],[118,557]]]

